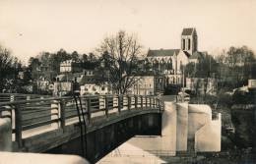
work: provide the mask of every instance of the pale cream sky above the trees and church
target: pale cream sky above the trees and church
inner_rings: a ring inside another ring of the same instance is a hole
[[[0,45],[27,62],[39,52],[89,53],[105,36],[135,33],[145,51],[180,48],[196,27],[198,49],[256,52],[256,0],[0,0]]]

